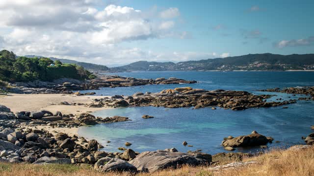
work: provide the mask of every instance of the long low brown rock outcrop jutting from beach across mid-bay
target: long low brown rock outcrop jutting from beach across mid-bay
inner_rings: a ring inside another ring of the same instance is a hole
[[[270,95],[254,95],[247,91],[205,90],[193,88],[175,88],[162,90],[159,93],[137,92],[132,96],[120,95],[111,98],[95,99],[88,107],[127,107],[127,106],[156,106],[166,108],[221,107],[231,110],[248,108],[276,107],[295,103],[295,100],[283,102],[267,102]]]

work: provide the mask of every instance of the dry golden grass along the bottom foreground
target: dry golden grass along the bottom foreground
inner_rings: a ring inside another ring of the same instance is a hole
[[[314,147],[303,150],[273,150],[244,161],[258,161],[236,169],[210,171],[208,167],[183,166],[138,176],[313,176]],[[0,163],[0,176],[129,176],[129,173],[100,173],[87,165],[32,165]]]

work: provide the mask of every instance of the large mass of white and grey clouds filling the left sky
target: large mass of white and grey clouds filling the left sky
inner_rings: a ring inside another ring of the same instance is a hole
[[[174,26],[178,8],[155,15],[102,0],[0,0],[0,49],[103,65],[139,60],[186,61],[217,57],[206,52],[156,52],[121,43],[150,38],[191,38]],[[172,18],[172,19],[171,19]],[[167,20],[166,20],[167,19]],[[171,19],[171,20],[170,20]],[[3,29],[3,30],[2,30]]]

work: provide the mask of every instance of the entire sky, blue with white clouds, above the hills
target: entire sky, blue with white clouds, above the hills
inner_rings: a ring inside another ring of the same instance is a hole
[[[314,0],[0,0],[0,49],[120,66],[314,53]]]

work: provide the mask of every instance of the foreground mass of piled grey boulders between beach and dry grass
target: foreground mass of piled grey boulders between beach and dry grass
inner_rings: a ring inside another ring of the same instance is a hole
[[[66,133],[52,134],[37,130],[37,125],[56,125],[57,127],[77,127],[129,120],[128,117],[107,117],[102,119],[88,113],[78,115],[38,112],[17,112],[17,116],[5,106],[1,113],[8,114],[0,120],[0,162],[27,162],[33,164],[89,164],[101,172],[154,172],[160,169],[176,168],[181,165],[209,165],[211,155],[200,152],[187,154],[176,149],[136,153],[131,149],[119,153],[99,151],[103,148],[96,140],[87,141],[76,135]],[[28,117],[29,119],[26,119]],[[23,119],[22,119],[23,118]],[[26,120],[25,120],[26,119]],[[71,123],[76,123],[75,126]],[[65,123],[61,125],[61,123]],[[34,127],[34,128],[28,128]],[[126,142],[127,145],[128,142]],[[128,143],[131,145],[131,143]],[[148,162],[149,161],[149,162]]]

